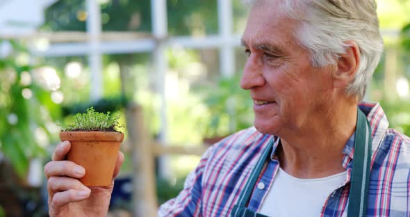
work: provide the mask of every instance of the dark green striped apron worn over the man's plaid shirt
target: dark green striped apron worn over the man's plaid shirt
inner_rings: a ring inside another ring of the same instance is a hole
[[[372,137],[370,132],[370,125],[366,115],[364,115],[358,108],[356,132],[354,135],[352,179],[350,180],[349,203],[347,204],[348,217],[366,216],[370,179],[370,160],[372,156]],[[272,150],[272,145],[273,141],[270,142],[265,152],[263,152],[261,159],[256,163],[255,169],[252,171],[248,182],[245,184],[244,190],[240,194],[238,203],[232,209],[231,216],[268,217],[247,209],[246,205],[251,198],[252,191],[261,174],[263,165]]]

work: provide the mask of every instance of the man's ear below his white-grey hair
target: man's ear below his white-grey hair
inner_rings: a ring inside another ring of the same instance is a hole
[[[346,53],[338,54],[336,61],[337,69],[333,74],[333,85],[335,88],[345,88],[356,75],[360,63],[360,49],[356,42],[350,40],[345,42]]]

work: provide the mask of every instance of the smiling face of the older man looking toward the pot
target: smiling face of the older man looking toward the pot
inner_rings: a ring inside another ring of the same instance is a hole
[[[249,57],[240,86],[254,100],[254,125],[277,136],[306,132],[326,112],[334,67],[312,67],[309,51],[293,35],[297,23],[276,1],[253,6],[243,33]]]

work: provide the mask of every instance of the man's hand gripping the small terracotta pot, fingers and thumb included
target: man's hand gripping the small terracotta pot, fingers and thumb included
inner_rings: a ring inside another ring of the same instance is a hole
[[[113,183],[106,187],[91,187],[83,185],[78,179],[85,175],[83,167],[66,161],[71,143],[59,143],[53,153],[53,161],[44,166],[49,192],[50,216],[106,216],[110,204]],[[117,176],[124,154],[118,152],[113,179]]]

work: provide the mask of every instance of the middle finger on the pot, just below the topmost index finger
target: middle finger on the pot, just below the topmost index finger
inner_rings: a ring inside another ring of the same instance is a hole
[[[68,176],[79,179],[85,175],[85,169],[72,161],[50,161],[44,166],[44,174],[47,179],[53,176]]]

